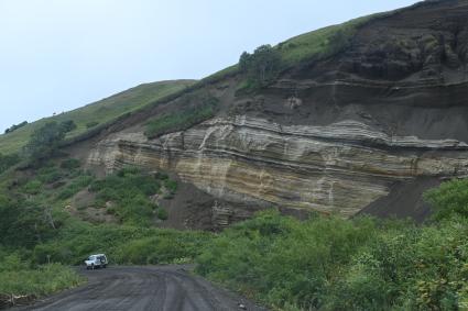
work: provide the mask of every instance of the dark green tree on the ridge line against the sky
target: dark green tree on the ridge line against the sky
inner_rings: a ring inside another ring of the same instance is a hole
[[[239,69],[258,87],[264,87],[276,79],[281,69],[281,55],[271,45],[261,45],[253,54],[243,52]]]

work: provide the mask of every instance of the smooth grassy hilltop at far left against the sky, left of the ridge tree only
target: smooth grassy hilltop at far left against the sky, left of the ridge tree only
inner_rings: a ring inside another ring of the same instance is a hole
[[[172,80],[145,84],[83,108],[52,118],[44,118],[12,133],[0,135],[0,153],[8,154],[20,151],[25,142],[28,142],[31,133],[46,122],[73,120],[77,124],[77,129],[70,133],[70,136],[76,136],[88,130],[86,124],[89,122],[97,122],[99,124],[109,122],[124,113],[134,111],[163,97],[183,90],[194,82],[194,80]]]

